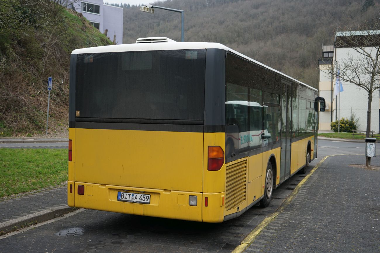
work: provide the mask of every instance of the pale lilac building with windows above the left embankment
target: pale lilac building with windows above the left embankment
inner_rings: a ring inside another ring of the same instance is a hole
[[[75,0],[72,2],[71,8],[82,13],[101,33],[108,30],[107,37],[111,41],[115,41],[116,44],[123,44],[123,8],[106,5],[103,0]]]

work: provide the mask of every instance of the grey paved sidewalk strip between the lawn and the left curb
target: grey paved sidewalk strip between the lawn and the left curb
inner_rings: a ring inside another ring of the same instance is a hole
[[[67,205],[67,186],[51,188],[14,198],[0,198],[0,223],[43,211],[51,207]],[[1,252],[1,248],[0,248]]]

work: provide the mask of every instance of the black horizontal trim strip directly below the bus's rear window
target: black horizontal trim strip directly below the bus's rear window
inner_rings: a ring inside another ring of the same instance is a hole
[[[203,125],[76,122],[76,128],[203,133]]]

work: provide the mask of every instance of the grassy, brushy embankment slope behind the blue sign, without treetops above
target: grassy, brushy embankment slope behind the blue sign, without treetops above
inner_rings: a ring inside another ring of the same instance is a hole
[[[42,134],[46,127],[47,77],[53,77],[49,132],[67,131],[70,53],[111,41],[81,14],[63,10],[53,28],[10,38],[0,54],[0,137]]]

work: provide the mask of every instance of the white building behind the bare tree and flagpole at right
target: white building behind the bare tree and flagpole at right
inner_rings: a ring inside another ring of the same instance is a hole
[[[347,33],[336,33],[336,38],[343,36],[347,36]],[[366,47],[365,49],[371,51],[375,48]],[[375,50],[373,50],[373,52],[374,51]],[[359,53],[351,47],[322,46],[322,58],[318,60],[320,70],[319,92],[320,96],[324,97],[326,100],[326,111],[320,112],[319,130],[331,130],[330,123],[332,121],[336,121],[338,118],[350,119],[351,114],[353,114],[355,115],[355,118],[358,119],[358,130],[366,131],[368,106],[367,91],[363,88],[359,88],[353,83],[342,82],[344,91],[340,92],[339,99],[339,95],[334,96],[336,78],[329,73],[331,72],[332,63],[334,63],[333,65],[339,69],[339,67],[342,68],[344,61],[348,61],[349,58],[355,59],[357,57],[359,57]],[[379,132],[379,104],[379,91],[375,91],[372,97],[370,125],[370,130],[373,130],[374,132]]]

